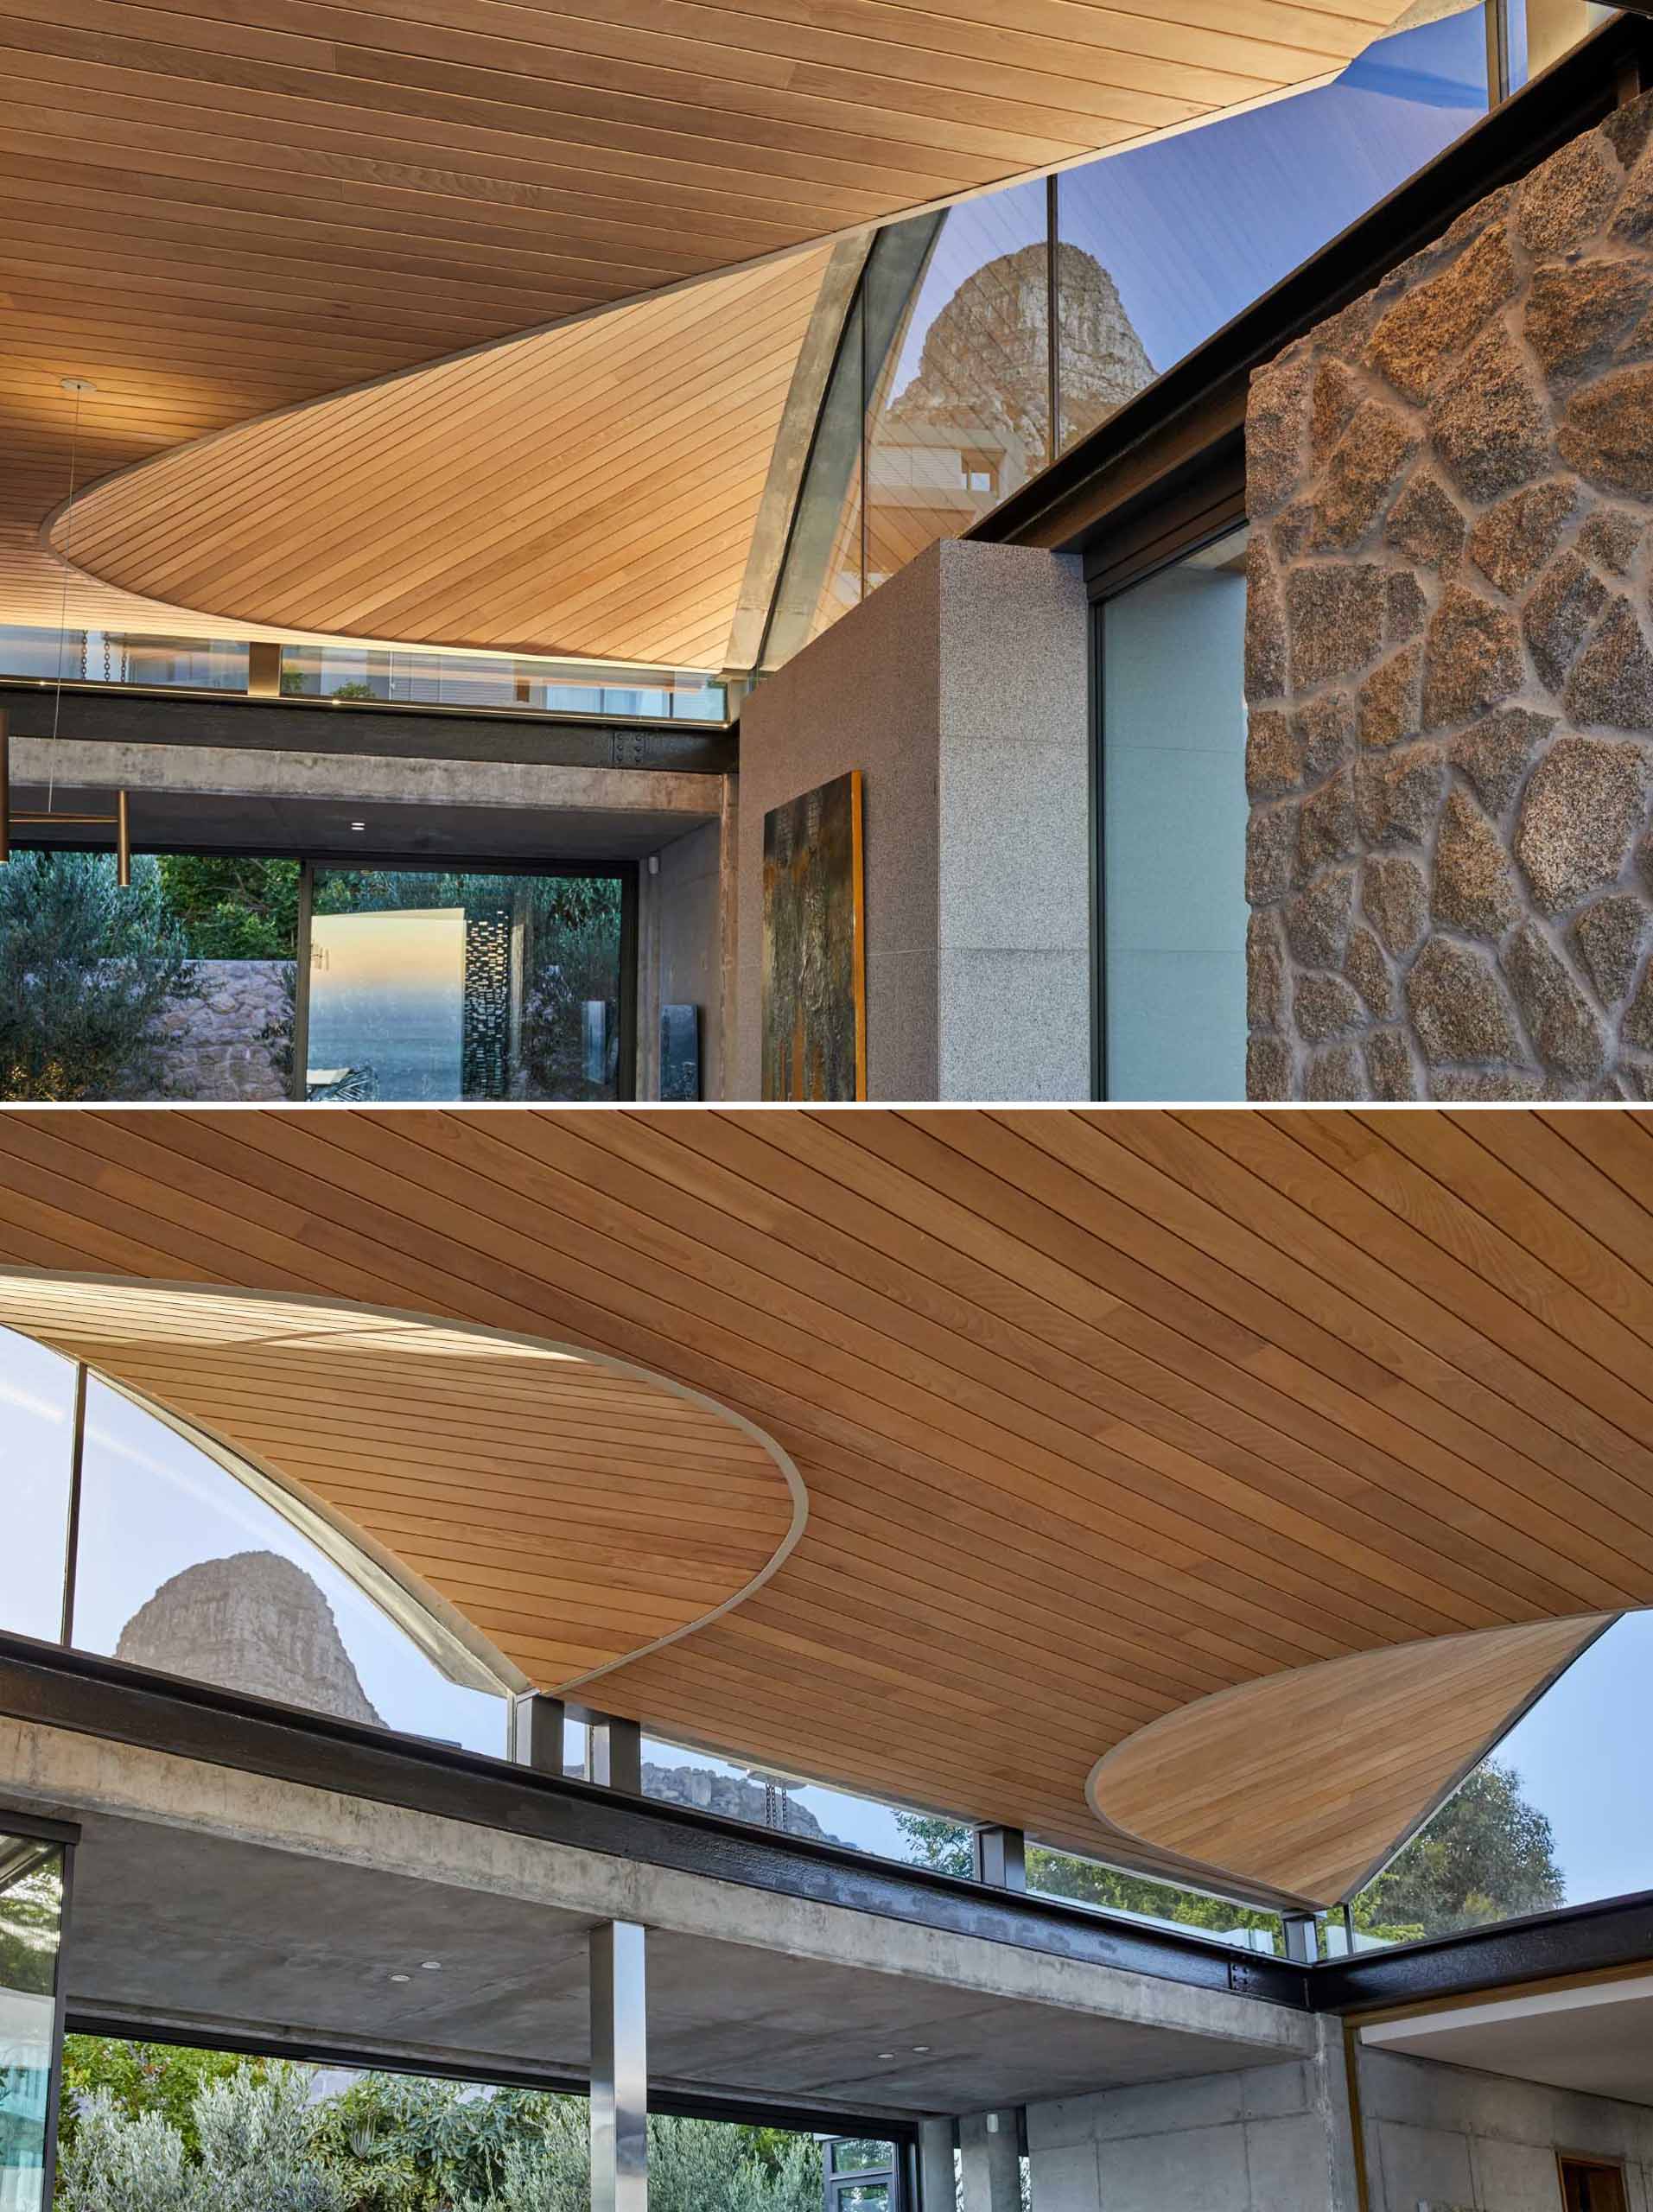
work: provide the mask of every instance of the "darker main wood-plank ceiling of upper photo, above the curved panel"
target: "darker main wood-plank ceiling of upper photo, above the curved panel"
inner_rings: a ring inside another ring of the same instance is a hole
[[[40,622],[60,584],[35,533],[69,489],[64,376],[97,383],[75,458],[86,484],[274,409],[1272,97],[1341,69],[1399,13],[1399,0],[4,0],[0,622]],[[644,538],[715,458],[713,434],[699,456],[657,449],[655,480],[631,487]],[[445,453],[432,425],[407,476]],[[513,409],[491,453],[520,458]],[[237,491],[254,529],[281,520],[261,478]],[[704,502],[682,518],[688,557],[701,526],[715,538],[728,520],[721,487]],[[347,520],[372,540],[372,518]],[[126,560],[111,582],[155,595]],[[84,588],[75,604],[82,622],[135,619]]]

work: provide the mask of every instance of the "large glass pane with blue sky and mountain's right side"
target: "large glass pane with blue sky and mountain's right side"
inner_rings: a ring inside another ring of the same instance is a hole
[[[1062,447],[1485,111],[1487,38],[1474,4],[1376,40],[1337,84],[1067,170],[1058,179]]]

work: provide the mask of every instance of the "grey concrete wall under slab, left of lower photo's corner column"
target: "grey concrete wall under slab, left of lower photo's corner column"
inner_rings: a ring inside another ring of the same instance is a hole
[[[1341,2059],[1031,2104],[1033,2212],[1354,2212]]]

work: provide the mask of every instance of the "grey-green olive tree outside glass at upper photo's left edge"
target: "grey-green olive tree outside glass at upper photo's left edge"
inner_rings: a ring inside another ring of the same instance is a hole
[[[13,852],[0,865],[0,1099],[133,1099],[162,1084],[155,1024],[193,991],[159,865]]]

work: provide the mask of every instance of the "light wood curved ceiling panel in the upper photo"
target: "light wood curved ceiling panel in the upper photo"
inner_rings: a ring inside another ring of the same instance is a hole
[[[53,546],[230,622],[721,668],[828,250],[184,447]]]

